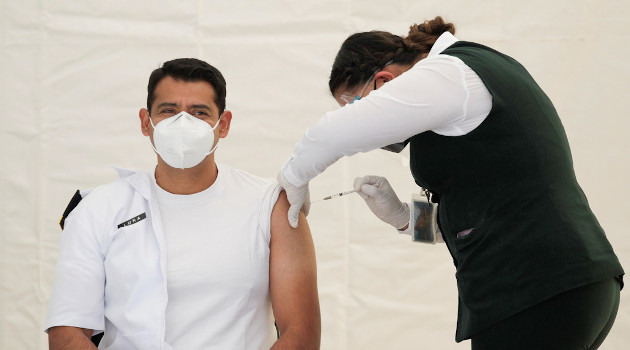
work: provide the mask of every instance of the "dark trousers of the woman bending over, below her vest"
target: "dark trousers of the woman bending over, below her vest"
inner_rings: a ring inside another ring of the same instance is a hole
[[[471,337],[472,350],[592,350],[617,316],[614,278],[556,295]]]

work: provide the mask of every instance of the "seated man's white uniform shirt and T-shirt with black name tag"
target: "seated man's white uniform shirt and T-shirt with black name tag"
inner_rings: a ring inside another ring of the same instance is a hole
[[[104,330],[101,349],[270,347],[278,193],[225,165],[191,196],[143,172],[95,188],[66,219],[46,328]]]

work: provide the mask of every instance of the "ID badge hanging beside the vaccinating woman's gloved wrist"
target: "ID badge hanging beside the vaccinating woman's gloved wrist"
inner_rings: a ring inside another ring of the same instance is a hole
[[[412,203],[415,222],[412,240],[430,244],[440,241],[442,235],[437,225],[437,204],[429,202],[424,193],[414,194]]]

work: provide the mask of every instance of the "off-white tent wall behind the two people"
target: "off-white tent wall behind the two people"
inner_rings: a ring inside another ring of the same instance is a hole
[[[151,169],[140,133],[146,82],[162,62],[198,57],[228,82],[232,130],[217,160],[274,177],[304,130],[337,108],[327,78],[349,34],[404,35],[442,15],[460,39],[523,63],[554,101],[575,169],[630,268],[630,2],[625,0],[0,0],[0,349],[45,349],[58,221],[76,189]],[[344,158],[311,198],[387,176],[418,193],[406,157]],[[322,349],[467,349],[455,343],[454,267],[443,245],[398,236],[358,196],[313,204]],[[627,349],[630,299],[602,349]]]

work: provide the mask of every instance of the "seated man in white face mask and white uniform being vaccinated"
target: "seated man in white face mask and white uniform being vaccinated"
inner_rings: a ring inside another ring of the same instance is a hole
[[[278,185],[217,164],[225,80],[206,62],[149,78],[154,172],[121,172],[65,219],[46,324],[51,349],[318,349],[315,253]],[[274,331],[274,318],[279,338]],[[277,338],[277,340],[276,340]]]

